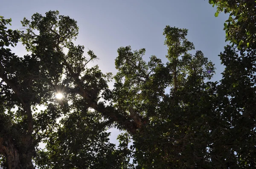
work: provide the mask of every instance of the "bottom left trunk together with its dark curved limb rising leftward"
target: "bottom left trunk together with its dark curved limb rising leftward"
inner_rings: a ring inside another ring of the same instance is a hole
[[[33,116],[29,100],[26,101],[26,93],[21,93],[20,90],[15,86],[15,83],[10,81],[5,72],[5,68],[0,64],[0,78],[13,90],[16,94],[20,103],[23,106],[24,111],[27,115],[27,132],[21,135],[20,139],[14,139],[10,135],[1,133],[0,138],[0,154],[2,154],[7,161],[9,169],[34,169],[32,163],[32,157],[35,154],[35,146],[32,144],[32,132],[33,132]],[[8,133],[8,132],[7,132]],[[17,133],[16,133],[17,134]],[[14,133],[14,135],[16,136]],[[19,146],[15,144],[15,141],[19,141]]]

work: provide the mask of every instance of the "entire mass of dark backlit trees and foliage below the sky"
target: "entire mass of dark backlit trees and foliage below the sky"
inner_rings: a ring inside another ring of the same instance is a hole
[[[210,81],[214,64],[192,54],[187,29],[164,28],[166,63],[157,56],[145,62],[145,49],[119,48],[112,76],[87,67],[96,55],[74,45],[79,28],[70,17],[37,13],[24,18],[23,31],[0,17],[1,167],[255,168],[256,3],[209,3],[215,16],[230,13],[224,29],[233,45],[220,54],[219,82]],[[29,54],[12,53],[18,42]],[[124,131],[118,146],[109,142],[111,127]]]

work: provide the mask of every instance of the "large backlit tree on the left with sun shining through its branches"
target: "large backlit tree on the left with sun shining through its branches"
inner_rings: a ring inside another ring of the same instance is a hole
[[[108,89],[110,74],[104,75],[97,66],[86,68],[96,56],[89,51],[90,58],[85,58],[84,47],[71,42],[78,33],[76,21],[49,11],[46,17],[34,14],[32,22],[25,18],[26,30],[21,32],[6,30],[10,21],[1,17],[2,166],[32,169],[32,159],[41,168],[129,166],[129,151],[124,147],[128,141],[120,139],[115,149],[105,132],[113,121],[124,117],[116,118],[118,112],[97,102],[101,90]],[[8,46],[18,40],[31,55],[18,57],[11,52]],[[69,49],[67,55],[64,47]],[[58,101],[54,95],[61,91],[65,98]],[[47,152],[37,148],[41,141],[47,143]]]

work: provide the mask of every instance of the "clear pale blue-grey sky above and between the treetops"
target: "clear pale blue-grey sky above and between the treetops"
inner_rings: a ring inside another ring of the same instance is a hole
[[[215,17],[215,8],[208,0],[1,0],[0,16],[12,18],[12,29],[20,29],[20,20],[30,20],[32,14],[58,10],[78,22],[76,45],[93,50],[99,58],[93,64],[104,72],[116,73],[114,59],[117,49],[131,45],[132,50],[145,48],[144,59],[151,55],[165,61],[163,29],[166,25],[188,29],[187,39],[194,43],[214,64],[212,81],[221,79],[224,67],[218,54],[224,50],[225,14]],[[13,50],[18,56],[26,53],[22,45]],[[117,143],[116,130],[111,140]]]

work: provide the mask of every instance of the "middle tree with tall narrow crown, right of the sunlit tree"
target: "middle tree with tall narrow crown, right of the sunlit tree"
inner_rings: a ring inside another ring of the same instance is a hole
[[[202,94],[207,96],[204,79],[213,75],[213,64],[201,51],[195,56],[188,53],[194,45],[186,39],[186,29],[166,26],[163,34],[169,47],[166,64],[156,56],[146,63],[142,59],[145,49],[131,52],[129,46],[119,48],[116,58],[119,71],[114,77],[112,98],[118,109],[125,109],[134,121],[139,121],[138,132],[132,134],[137,168],[186,168],[194,165],[194,157],[189,153],[202,151],[195,147],[184,152],[191,145],[187,137],[194,130],[192,124],[202,125],[195,119],[203,121],[199,110],[184,113],[195,109],[193,104]]]

